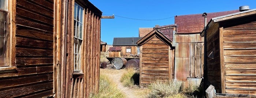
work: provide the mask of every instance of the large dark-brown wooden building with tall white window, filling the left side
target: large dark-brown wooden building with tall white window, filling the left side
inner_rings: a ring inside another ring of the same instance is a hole
[[[99,90],[99,9],[88,0],[0,4],[1,98],[89,97]]]

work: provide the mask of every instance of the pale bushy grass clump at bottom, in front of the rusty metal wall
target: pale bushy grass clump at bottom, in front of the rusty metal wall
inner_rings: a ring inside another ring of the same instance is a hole
[[[152,83],[149,88],[149,98],[184,98],[185,94],[182,93],[181,82],[162,82],[157,80]]]

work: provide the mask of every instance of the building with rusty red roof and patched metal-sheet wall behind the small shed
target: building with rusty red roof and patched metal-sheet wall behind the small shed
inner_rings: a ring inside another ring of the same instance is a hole
[[[233,14],[238,10],[207,13],[210,18]],[[172,46],[175,46],[174,80],[183,81],[184,85],[196,85],[202,82],[204,68],[204,29],[202,14],[175,16],[176,30],[173,32]]]

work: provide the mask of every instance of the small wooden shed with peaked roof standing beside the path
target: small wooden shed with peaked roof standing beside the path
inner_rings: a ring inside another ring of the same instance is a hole
[[[172,27],[173,29],[175,28]],[[174,48],[171,40],[154,29],[137,41],[140,46],[140,87],[156,80],[169,81],[174,74]]]

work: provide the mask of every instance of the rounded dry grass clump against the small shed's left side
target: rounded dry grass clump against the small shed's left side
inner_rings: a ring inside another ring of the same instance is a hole
[[[126,72],[121,76],[121,82],[125,87],[133,87],[139,84],[140,72],[133,68],[127,68]]]

